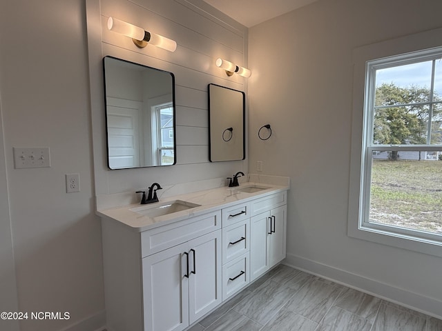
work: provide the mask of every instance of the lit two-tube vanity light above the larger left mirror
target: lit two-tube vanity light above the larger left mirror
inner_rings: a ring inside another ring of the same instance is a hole
[[[164,50],[169,50],[169,52],[175,52],[177,49],[177,43],[174,40],[160,36],[160,34],[145,31],[143,28],[134,26],[121,19],[109,17],[108,29],[132,38],[133,43],[135,43],[138,48],[144,48],[150,43]]]

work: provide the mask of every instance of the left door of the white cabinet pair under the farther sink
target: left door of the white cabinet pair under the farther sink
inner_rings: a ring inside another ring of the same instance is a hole
[[[269,270],[270,212],[263,212],[250,219],[250,281]]]

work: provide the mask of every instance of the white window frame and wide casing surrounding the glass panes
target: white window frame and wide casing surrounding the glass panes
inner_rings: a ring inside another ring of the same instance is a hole
[[[431,30],[407,37],[383,41],[369,46],[356,48],[354,60],[354,91],[352,119],[352,154],[350,164],[349,185],[349,237],[392,245],[398,248],[414,250],[442,257],[442,237],[418,230],[393,227],[391,225],[376,225],[365,221],[369,213],[369,188],[371,184],[371,162],[373,150],[441,150],[441,146],[407,145],[401,146],[369,146],[372,139],[372,112],[364,112],[372,107],[374,100],[370,91],[374,92],[374,74],[383,66],[390,66],[392,58],[396,63],[416,62],[416,52],[424,57],[434,58],[441,52],[442,29]],[[439,47],[439,48],[438,48]],[[425,51],[423,51],[425,50]],[[402,54],[398,56],[398,54]],[[374,60],[378,59],[378,60]],[[423,60],[419,60],[423,61]],[[371,87],[371,88],[370,88]]]

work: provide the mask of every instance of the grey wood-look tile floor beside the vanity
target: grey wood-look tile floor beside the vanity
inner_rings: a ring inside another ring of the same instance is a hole
[[[441,331],[442,320],[278,265],[189,331]]]

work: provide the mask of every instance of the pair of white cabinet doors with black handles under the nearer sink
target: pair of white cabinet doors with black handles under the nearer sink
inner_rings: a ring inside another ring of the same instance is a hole
[[[183,330],[221,303],[221,231],[142,259],[144,331]]]

